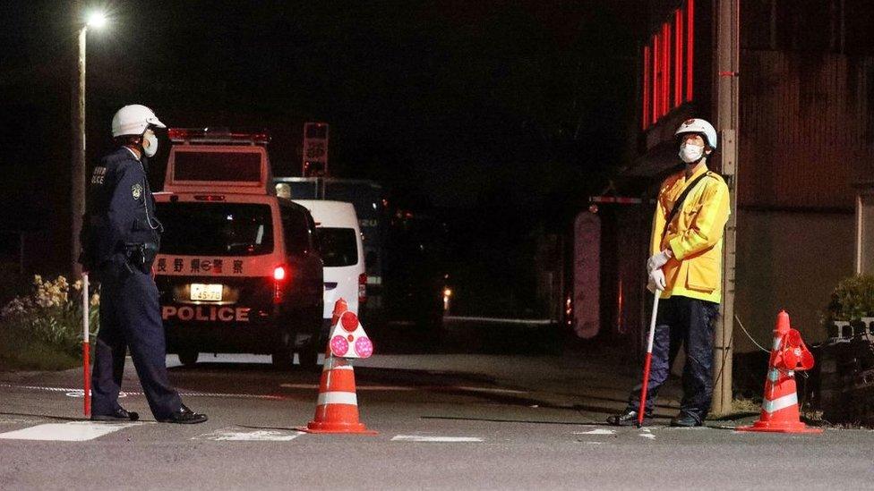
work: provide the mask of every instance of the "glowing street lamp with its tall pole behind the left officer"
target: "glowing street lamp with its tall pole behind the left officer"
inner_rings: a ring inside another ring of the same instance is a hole
[[[101,29],[107,24],[107,15],[101,11],[88,14],[85,23],[79,29],[79,60],[77,87],[73,91],[73,182],[71,192],[72,213],[72,271],[73,277],[81,277],[79,252],[81,250],[80,233],[82,216],[85,214],[85,40],[88,29]]]

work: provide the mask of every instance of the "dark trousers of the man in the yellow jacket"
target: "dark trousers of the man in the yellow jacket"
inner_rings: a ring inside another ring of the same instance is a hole
[[[647,415],[656,407],[656,395],[671,375],[680,346],[686,353],[682,372],[683,397],[680,411],[703,421],[713,398],[713,326],[719,304],[673,296],[658,302],[653,362],[647,385]],[[648,334],[648,333],[647,333]],[[628,410],[640,407],[638,384],[629,395]]]

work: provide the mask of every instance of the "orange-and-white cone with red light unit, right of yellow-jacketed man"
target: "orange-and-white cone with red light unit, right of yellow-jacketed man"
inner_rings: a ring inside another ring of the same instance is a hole
[[[801,334],[789,326],[789,314],[781,310],[774,328],[761,415],[751,427],[737,428],[738,431],[822,433],[822,428],[805,426],[798,411],[795,371],[812,367],[813,356],[801,342]]]

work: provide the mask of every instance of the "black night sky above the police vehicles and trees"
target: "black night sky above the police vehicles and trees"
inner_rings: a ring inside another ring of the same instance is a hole
[[[530,227],[572,216],[635,134],[638,1],[101,4],[90,163],[124,104],[171,126],[266,128],[278,175],[299,175],[302,124],[324,121],[332,174],[383,182],[410,207],[491,223],[481,212],[502,210]],[[4,0],[0,19],[0,206],[26,211],[2,224],[63,241],[73,3]]]

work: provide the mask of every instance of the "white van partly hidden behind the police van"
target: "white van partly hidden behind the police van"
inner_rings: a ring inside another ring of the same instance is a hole
[[[367,272],[358,216],[352,203],[323,199],[295,199],[313,215],[319,251],[324,264],[324,323],[327,335],[334,303],[344,299],[359,313],[366,301]]]

